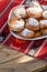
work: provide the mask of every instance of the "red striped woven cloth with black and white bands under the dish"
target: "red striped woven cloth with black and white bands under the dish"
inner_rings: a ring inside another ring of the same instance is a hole
[[[8,27],[9,12],[13,7],[25,2],[26,0],[0,0],[0,43],[11,47],[17,51],[22,51],[28,55],[47,60],[47,39],[24,41],[14,38],[10,33]],[[43,3],[43,0],[40,0],[40,3]]]

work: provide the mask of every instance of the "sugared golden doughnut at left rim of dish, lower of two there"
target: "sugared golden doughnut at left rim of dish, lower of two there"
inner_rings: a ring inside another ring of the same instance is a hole
[[[14,20],[11,23],[9,23],[9,28],[13,31],[22,31],[24,29],[25,22],[24,20]]]

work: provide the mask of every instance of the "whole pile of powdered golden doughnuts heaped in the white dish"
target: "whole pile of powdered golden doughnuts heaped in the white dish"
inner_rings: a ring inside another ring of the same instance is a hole
[[[33,1],[28,7],[16,6],[12,10],[9,28],[27,39],[47,34],[47,10],[37,1]]]

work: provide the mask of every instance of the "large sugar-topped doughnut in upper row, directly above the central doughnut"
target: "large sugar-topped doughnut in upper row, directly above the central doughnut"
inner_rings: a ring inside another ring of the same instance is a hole
[[[42,13],[43,13],[43,9],[40,7],[33,7],[33,8],[27,8],[26,9],[26,13],[28,17],[32,17],[32,18],[40,18],[42,17]]]

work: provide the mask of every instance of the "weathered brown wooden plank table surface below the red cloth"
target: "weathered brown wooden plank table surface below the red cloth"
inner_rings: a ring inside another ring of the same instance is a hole
[[[0,72],[38,72],[47,62],[0,44]]]

